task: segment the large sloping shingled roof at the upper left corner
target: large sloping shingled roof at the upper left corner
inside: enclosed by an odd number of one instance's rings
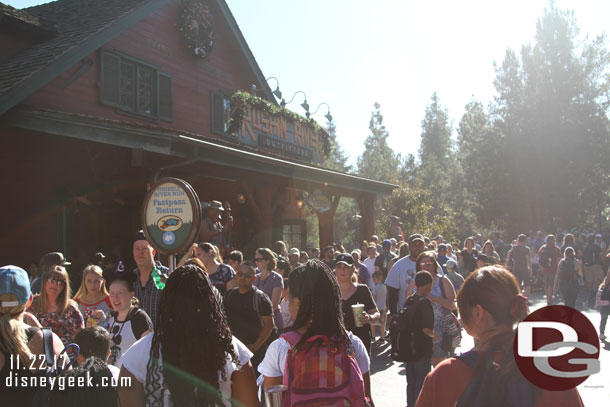
[[[16,10],[53,25],[57,35],[0,64],[0,115],[167,1],[58,0]]]

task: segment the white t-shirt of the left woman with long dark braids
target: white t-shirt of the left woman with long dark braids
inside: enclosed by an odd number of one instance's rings
[[[153,335],[146,335],[139,341],[133,344],[131,348],[123,354],[123,367],[129,370],[134,377],[146,386],[146,366],[148,365],[148,359],[150,359],[150,346],[152,344]],[[239,360],[239,366],[235,365],[231,360],[231,357],[227,355],[227,363],[225,365],[225,377],[226,380],[222,380],[221,373],[218,372],[218,387],[223,397],[224,405],[231,407],[231,375],[234,371],[239,370],[241,366],[244,366],[252,358],[252,352],[239,341],[236,337],[233,337],[233,348],[235,354]],[[159,356],[159,365],[161,365],[161,356]],[[163,376],[161,375],[161,381]],[[165,407],[171,407],[172,402],[170,399],[169,390],[165,387],[162,388],[163,394],[163,405]]]

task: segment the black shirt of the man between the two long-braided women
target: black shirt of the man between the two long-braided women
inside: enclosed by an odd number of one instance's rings
[[[233,335],[245,344],[256,342],[263,329],[261,317],[273,316],[271,300],[254,286],[245,294],[238,287],[230,289],[224,305]]]

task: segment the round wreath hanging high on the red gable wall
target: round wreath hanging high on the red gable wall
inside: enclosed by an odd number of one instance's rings
[[[184,45],[205,60],[214,47],[214,24],[207,0],[182,0],[179,18]]]

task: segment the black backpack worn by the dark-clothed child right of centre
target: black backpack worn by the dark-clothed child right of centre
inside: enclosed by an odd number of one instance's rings
[[[419,301],[420,297],[417,295],[407,298],[403,309],[392,318],[390,323],[392,360],[413,362],[421,357],[415,342],[415,316]]]

